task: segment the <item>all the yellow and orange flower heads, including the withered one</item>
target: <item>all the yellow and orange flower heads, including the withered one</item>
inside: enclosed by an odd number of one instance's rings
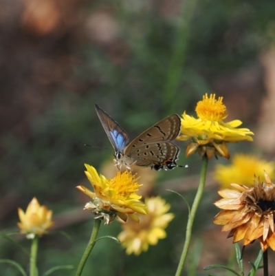
[[[223,98],[215,98],[214,94],[197,103],[197,118],[184,112],[181,118],[181,134],[177,140],[188,140],[186,156],[199,153],[208,159],[212,156],[230,158],[227,143],[243,140],[252,141],[252,131],[239,128],[240,120],[224,123],[228,116]],[[118,218],[123,231],[118,238],[126,253],[140,254],[148,249],[148,245],[157,244],[159,239],[166,237],[164,229],[168,226],[174,215],[168,213],[170,205],[160,198],[147,198],[141,201],[137,191],[142,186],[137,183],[137,176],[131,171],[118,171],[113,178],[99,175],[94,167],[85,164],[85,174],[91,182],[94,191],[84,186],[77,189],[91,198],[85,205],[91,210],[96,219],[111,224]],[[217,165],[214,178],[225,189],[219,191],[222,199],[215,205],[223,209],[214,217],[214,224],[223,225],[221,231],[230,231],[228,237],[233,242],[243,240],[244,245],[260,240],[261,248],[268,247],[275,250],[274,234],[274,200],[275,184],[270,180],[267,171],[273,178],[275,176],[274,162],[259,160],[254,156],[236,155],[231,166]],[[254,175],[264,178],[256,178]],[[252,180],[254,178],[254,184]],[[241,184],[229,184],[232,182]],[[131,220],[127,220],[128,217]],[[34,198],[24,213],[19,209],[19,227],[28,237],[43,235],[52,226],[52,211],[46,206],[40,206]]]

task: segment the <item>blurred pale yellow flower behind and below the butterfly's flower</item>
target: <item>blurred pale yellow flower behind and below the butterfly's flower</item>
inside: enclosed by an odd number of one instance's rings
[[[122,224],[124,231],[118,235],[127,254],[140,255],[142,251],[147,251],[149,245],[155,245],[159,239],[164,239],[166,237],[164,229],[174,218],[173,213],[167,213],[170,205],[159,196],[146,198],[145,203],[149,214],[139,215],[139,224],[130,221]]]

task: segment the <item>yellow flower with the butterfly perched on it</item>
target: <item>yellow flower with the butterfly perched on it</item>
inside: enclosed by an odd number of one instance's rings
[[[85,174],[94,187],[94,192],[84,186],[76,187],[93,200],[85,205],[85,210],[92,210],[96,218],[104,219],[105,224],[113,222],[117,215],[124,222],[128,216],[139,222],[136,213],[148,213],[145,204],[140,202],[142,197],[135,193],[142,185],[137,183],[137,178],[130,171],[119,171],[114,178],[107,179],[98,176],[96,169],[89,164],[85,167]]]

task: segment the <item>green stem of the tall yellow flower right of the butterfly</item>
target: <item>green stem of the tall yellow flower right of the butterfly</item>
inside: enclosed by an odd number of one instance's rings
[[[194,202],[192,204],[191,211],[188,216],[188,222],[186,226],[186,240],[184,243],[184,249],[181,253],[181,258],[179,259],[179,265],[177,266],[177,272],[175,276],[181,275],[181,270],[184,268],[184,262],[186,261],[186,256],[188,253],[188,248],[191,241],[191,235],[192,235],[192,225],[195,220],[195,215],[199,206],[199,202],[201,201],[201,196],[204,191],[204,187],[206,184],[206,171],[208,166],[208,158],[207,156],[203,156],[202,158],[202,165],[201,165],[201,177],[199,179],[199,188],[197,189],[197,194],[195,196]]]

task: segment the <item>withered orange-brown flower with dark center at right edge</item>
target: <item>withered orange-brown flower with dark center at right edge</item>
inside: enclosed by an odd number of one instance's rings
[[[274,215],[275,184],[264,173],[265,182],[254,179],[250,188],[231,184],[236,190],[219,191],[222,199],[214,204],[223,209],[214,217],[214,224],[223,225],[221,231],[230,231],[233,242],[243,240],[246,246],[259,239],[261,248],[275,250]]]

